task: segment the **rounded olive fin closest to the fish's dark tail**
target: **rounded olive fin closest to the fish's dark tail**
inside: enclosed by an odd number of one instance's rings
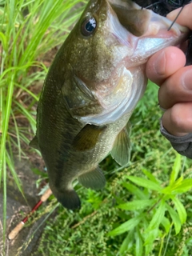
[[[101,190],[106,185],[106,178],[102,174],[102,170],[97,167],[94,170],[90,170],[86,174],[82,174],[78,177],[78,182],[90,188],[92,190]]]

